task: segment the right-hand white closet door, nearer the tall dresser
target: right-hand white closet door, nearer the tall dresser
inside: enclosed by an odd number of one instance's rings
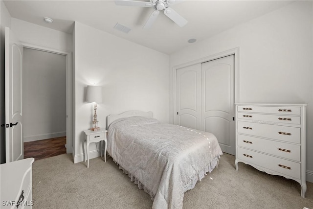
[[[202,63],[202,130],[213,133],[223,152],[235,155],[234,55]]]

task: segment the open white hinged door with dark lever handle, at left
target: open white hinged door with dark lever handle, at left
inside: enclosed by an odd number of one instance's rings
[[[23,50],[10,28],[5,27],[5,155],[6,163],[24,157],[22,135]]]

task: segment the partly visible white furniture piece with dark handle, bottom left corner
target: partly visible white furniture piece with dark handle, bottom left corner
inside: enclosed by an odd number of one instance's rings
[[[32,163],[34,158],[26,158],[0,165],[1,209],[31,209]]]

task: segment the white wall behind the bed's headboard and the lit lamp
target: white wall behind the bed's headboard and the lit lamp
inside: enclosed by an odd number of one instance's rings
[[[85,102],[87,85],[103,87],[97,109],[100,127],[106,127],[106,116],[128,110],[153,111],[168,122],[168,55],[78,22],[74,37],[75,163],[83,161],[83,130],[90,128],[93,116],[93,104]]]

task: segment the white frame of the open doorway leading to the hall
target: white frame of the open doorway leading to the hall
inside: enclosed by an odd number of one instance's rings
[[[55,54],[61,54],[66,56],[66,75],[67,75],[67,154],[72,153],[72,52],[45,47],[45,46],[39,46],[29,43],[22,42],[22,46],[24,48],[30,48],[45,52],[51,52]]]

